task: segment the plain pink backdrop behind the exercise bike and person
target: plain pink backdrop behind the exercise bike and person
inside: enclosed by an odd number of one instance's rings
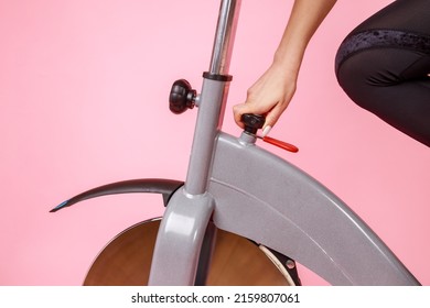
[[[230,107],[269,65],[292,1],[245,0]],[[311,42],[297,96],[271,135],[278,151],[346,201],[430,285],[429,148],[343,94],[333,58],[343,37],[388,0],[340,1]],[[79,285],[125,228],[162,213],[159,196],[64,199],[103,184],[184,179],[196,111],[168,109],[173,80],[201,88],[218,1],[0,2],[0,285]],[[307,271],[305,284],[324,284]]]

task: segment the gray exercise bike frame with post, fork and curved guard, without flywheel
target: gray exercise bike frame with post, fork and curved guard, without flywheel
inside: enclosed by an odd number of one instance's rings
[[[322,184],[256,145],[256,135],[236,138],[222,131],[240,2],[221,1],[209,69],[195,98],[198,114],[186,180],[106,185],[53,211],[101,195],[162,194],[166,210],[149,285],[195,285],[197,270],[208,267],[216,229],[289,255],[332,285],[419,285],[377,234]],[[208,228],[212,222],[216,228]]]

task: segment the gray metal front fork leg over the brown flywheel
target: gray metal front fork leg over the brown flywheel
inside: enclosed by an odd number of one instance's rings
[[[150,286],[194,285],[213,208],[208,195],[190,197],[183,189],[173,195],[158,232]]]

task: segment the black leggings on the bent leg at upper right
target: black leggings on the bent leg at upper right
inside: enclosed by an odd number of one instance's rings
[[[397,0],[364,21],[335,69],[353,101],[430,146],[430,0]]]

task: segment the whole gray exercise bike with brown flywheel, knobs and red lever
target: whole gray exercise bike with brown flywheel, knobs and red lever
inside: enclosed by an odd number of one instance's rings
[[[247,284],[251,278],[244,273],[256,270],[252,284],[300,285],[298,262],[332,285],[420,285],[338,197],[257,145],[264,117],[245,114],[245,131],[239,136],[222,131],[240,2],[221,1],[211,64],[203,73],[201,91],[185,79],[176,80],[171,89],[172,112],[198,109],[185,180],[114,183],[79,194],[52,210],[112,194],[163,196],[163,217],[116,237],[96,258],[84,284]],[[264,141],[298,151],[284,142]],[[225,270],[226,263],[241,264],[240,274],[235,266]],[[272,274],[269,267],[275,268]],[[235,278],[239,276],[245,282]],[[264,276],[271,278],[265,280]]]

